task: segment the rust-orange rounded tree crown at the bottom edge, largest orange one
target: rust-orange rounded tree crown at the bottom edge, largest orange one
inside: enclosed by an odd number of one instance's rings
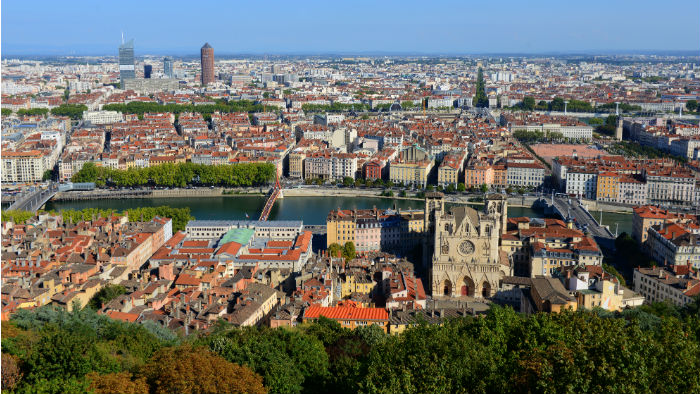
[[[156,394],[266,394],[262,377],[206,348],[189,345],[158,351],[142,369]]]

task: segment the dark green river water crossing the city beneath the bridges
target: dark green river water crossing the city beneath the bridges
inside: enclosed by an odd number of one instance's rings
[[[225,196],[225,197],[179,197],[179,198],[130,198],[115,200],[84,200],[84,201],[49,201],[47,210],[100,208],[122,211],[138,207],[155,207],[169,205],[173,208],[189,207],[192,216],[197,219],[244,220],[258,219],[265,205],[263,196]],[[285,197],[277,200],[270,220],[303,220],[305,224],[326,224],[328,212],[333,209],[367,209],[376,206],[380,209],[396,206],[400,209],[423,209],[423,201],[387,199],[379,197]],[[449,207],[449,204],[448,204]],[[483,205],[474,205],[481,209]],[[544,213],[532,208],[508,207],[509,217],[543,217]],[[596,220],[599,213],[594,212]],[[615,223],[619,232],[632,231],[632,215],[603,212],[603,224],[609,225],[613,234]]]

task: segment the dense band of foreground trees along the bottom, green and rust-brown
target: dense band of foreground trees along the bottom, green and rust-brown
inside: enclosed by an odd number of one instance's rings
[[[91,308],[21,310],[2,323],[10,393],[691,393],[698,302],[418,322],[398,335],[320,318],[295,328],[175,335]]]

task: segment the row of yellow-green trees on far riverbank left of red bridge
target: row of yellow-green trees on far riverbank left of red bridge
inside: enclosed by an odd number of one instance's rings
[[[276,168],[272,163],[240,163],[205,165],[195,163],[165,163],[151,167],[131,167],[119,170],[98,167],[85,163],[73,175],[73,182],[94,182],[98,187],[166,186],[187,185],[260,186],[275,179]]]

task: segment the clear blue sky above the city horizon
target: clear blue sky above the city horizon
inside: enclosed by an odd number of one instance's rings
[[[2,54],[697,50],[698,0],[5,0]]]

